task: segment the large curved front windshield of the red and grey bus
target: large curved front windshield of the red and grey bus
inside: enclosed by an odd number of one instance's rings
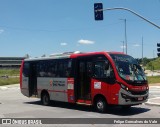
[[[133,57],[124,54],[110,54],[110,56],[122,79],[136,83],[146,81],[143,69]]]

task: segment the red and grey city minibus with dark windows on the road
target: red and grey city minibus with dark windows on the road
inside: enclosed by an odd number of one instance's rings
[[[121,52],[62,53],[25,59],[20,90],[27,97],[91,105],[130,108],[147,101],[148,82],[136,59]]]

